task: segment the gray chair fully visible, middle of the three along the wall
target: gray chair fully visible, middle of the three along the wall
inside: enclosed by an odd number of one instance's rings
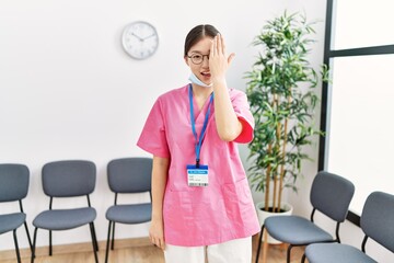
[[[42,181],[44,193],[49,196],[49,209],[39,213],[33,220],[34,238],[32,263],[35,258],[37,230],[49,231],[49,255],[53,254],[53,231],[74,229],[84,225],[90,226],[95,262],[99,250],[94,219],[96,210],[91,206],[90,194],[93,193],[96,182],[96,167],[86,160],[63,160],[48,162],[43,167]],[[53,208],[55,198],[86,196],[88,204],[76,208]]]

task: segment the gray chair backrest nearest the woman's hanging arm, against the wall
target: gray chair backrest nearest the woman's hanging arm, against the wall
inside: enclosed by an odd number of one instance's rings
[[[107,165],[108,185],[115,193],[150,192],[151,173],[152,158],[115,159]]]

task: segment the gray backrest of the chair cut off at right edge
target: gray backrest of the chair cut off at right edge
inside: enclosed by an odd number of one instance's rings
[[[368,237],[394,252],[394,195],[371,193],[363,206],[360,226]]]

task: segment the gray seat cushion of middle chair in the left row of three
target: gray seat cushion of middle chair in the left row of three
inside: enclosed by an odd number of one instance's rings
[[[39,213],[33,225],[47,230],[68,230],[93,222],[95,218],[96,210],[93,207],[53,209]]]

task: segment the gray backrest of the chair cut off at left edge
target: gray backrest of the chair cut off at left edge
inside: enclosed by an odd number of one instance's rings
[[[24,164],[0,164],[0,202],[20,201],[28,192],[30,171]]]

